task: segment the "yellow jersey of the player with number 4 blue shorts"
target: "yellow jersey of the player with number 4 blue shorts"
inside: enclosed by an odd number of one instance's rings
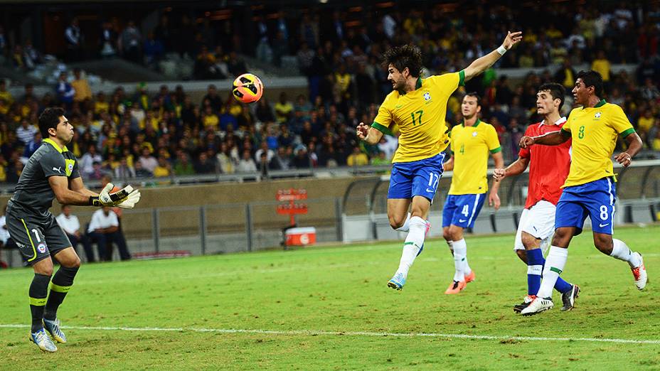
[[[495,127],[477,119],[472,127],[464,124],[453,127],[450,138],[454,151],[454,176],[449,194],[485,193],[488,190],[488,156],[502,150]]]

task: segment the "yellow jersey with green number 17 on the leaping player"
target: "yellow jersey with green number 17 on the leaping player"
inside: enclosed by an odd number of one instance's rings
[[[447,100],[464,80],[464,71],[420,77],[412,92],[394,90],[385,97],[371,127],[384,134],[400,132],[392,163],[424,160],[447,148]]]

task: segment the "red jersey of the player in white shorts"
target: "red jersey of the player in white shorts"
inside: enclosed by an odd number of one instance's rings
[[[525,131],[526,136],[539,136],[552,131],[559,131],[566,118],[562,117],[553,125],[537,122]],[[518,156],[529,158],[529,188],[525,208],[531,208],[538,201],[546,200],[557,205],[568,171],[570,170],[570,139],[558,146],[534,144],[521,149]]]

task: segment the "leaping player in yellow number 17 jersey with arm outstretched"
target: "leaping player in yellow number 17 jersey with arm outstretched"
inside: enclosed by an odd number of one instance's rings
[[[449,96],[459,85],[493,65],[521,39],[521,32],[509,32],[499,48],[474,60],[464,70],[425,79],[420,77],[422,54],[413,45],[392,48],[383,55],[393,91],[380,105],[371,127],[361,122],[357,135],[369,144],[376,144],[383,133],[400,132],[399,147],[392,160],[388,218],[391,227],[408,232],[408,236],[399,268],[388,281],[389,287],[403,288],[430,227],[426,219],[442,176],[445,158],[442,151],[449,142],[445,125]],[[408,213],[411,205],[412,212]]]

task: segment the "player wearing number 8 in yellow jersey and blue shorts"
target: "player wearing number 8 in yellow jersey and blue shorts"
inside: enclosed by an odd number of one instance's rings
[[[646,286],[646,269],[639,252],[632,252],[621,240],[612,238],[614,232],[614,201],[616,185],[612,152],[617,136],[626,139],[628,149],[615,159],[629,166],[632,157],[642,149],[642,139],[617,104],[602,97],[602,77],[595,71],[580,71],[573,88],[575,102],[582,106],[573,109],[560,131],[541,136],[523,136],[521,148],[534,144],[556,146],[568,139],[573,141],[572,161],[563,193],[555,211],[555,235],[545,259],[541,289],[527,308],[521,311],[531,316],[553,308],[552,290],[568,258],[568,244],[582,232],[587,216],[591,218],[594,244],[603,254],[628,262],[637,289]]]

